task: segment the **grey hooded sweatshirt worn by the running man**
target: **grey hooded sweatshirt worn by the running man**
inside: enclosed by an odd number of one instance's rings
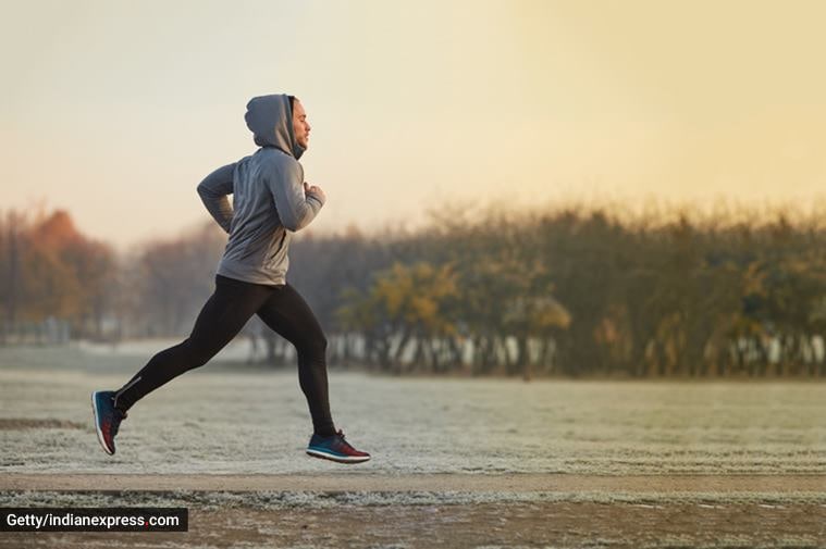
[[[304,192],[304,148],[295,140],[289,97],[250,99],[247,127],[260,147],[219,167],[198,185],[204,205],[230,234],[218,274],[255,284],[286,284],[292,233],[306,227],[324,201]],[[233,195],[233,204],[226,199]]]

